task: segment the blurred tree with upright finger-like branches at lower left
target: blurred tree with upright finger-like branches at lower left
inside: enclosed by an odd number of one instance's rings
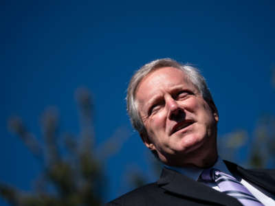
[[[76,100],[80,113],[78,137],[68,133],[59,135],[58,113],[54,108],[45,111],[41,118],[44,144],[39,144],[19,117],[10,119],[10,130],[22,139],[25,146],[43,164],[43,173],[36,181],[34,192],[26,193],[0,183],[0,195],[10,205],[102,205],[105,189],[102,174],[104,160],[98,158],[94,146],[94,106],[85,89],[78,89]],[[113,139],[110,140],[113,142]],[[60,141],[61,145],[58,144]],[[118,146],[118,139],[115,142]],[[112,148],[107,141],[101,146],[100,151],[106,151],[102,156],[110,155],[116,146],[113,144]]]

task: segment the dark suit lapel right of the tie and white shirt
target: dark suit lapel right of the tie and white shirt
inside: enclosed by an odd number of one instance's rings
[[[250,183],[258,185],[267,192],[275,194],[275,179],[267,172],[264,172],[264,170],[245,170],[244,168],[241,168],[239,165],[231,163],[230,161],[224,162],[230,172],[237,172],[241,178],[249,181]]]

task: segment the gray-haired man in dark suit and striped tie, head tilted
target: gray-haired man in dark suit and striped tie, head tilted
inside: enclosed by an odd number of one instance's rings
[[[150,62],[131,79],[126,100],[133,127],[165,166],[156,183],[107,205],[275,205],[274,171],[219,158],[219,113],[197,69]]]

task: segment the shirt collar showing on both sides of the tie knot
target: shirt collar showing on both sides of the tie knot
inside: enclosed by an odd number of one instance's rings
[[[195,168],[195,167],[177,168],[177,167],[171,167],[168,165],[164,165],[164,166],[170,170],[174,170],[176,172],[184,174],[188,178],[193,179],[195,181],[197,181],[199,179],[199,176],[201,175],[201,172],[203,171],[203,168]],[[214,165],[211,168],[215,168],[225,174],[230,174],[232,176],[232,174],[228,171],[228,168],[226,167],[225,163],[223,162],[223,160],[220,157],[218,157],[216,163],[214,163]]]

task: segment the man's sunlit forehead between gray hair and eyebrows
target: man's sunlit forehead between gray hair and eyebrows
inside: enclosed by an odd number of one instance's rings
[[[195,89],[194,85],[188,80],[184,71],[175,67],[162,67],[145,76],[135,92],[137,102],[146,101],[153,95],[162,93],[162,91],[169,91],[176,87],[188,87],[188,89]]]

